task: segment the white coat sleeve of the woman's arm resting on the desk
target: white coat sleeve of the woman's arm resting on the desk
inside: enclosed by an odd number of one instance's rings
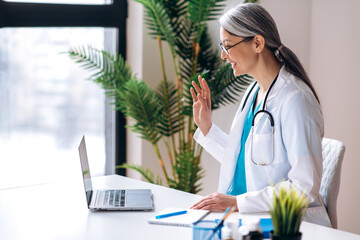
[[[259,191],[236,197],[239,212],[264,212],[271,206],[274,188],[296,186],[309,204],[319,195],[322,176],[323,118],[319,104],[308,92],[300,91],[284,101],[281,112],[282,141],[291,165],[288,179]]]

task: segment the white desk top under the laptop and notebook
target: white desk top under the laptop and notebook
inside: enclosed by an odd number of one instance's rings
[[[94,188],[150,188],[155,211],[90,212],[81,179],[77,180],[0,191],[0,239],[192,239],[191,228],[150,225],[147,219],[165,207],[189,207],[201,196],[112,175],[94,178]],[[301,231],[303,240],[360,239],[306,222]]]

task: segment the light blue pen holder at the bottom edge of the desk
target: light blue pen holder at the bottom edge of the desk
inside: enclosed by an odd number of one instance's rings
[[[193,240],[220,240],[221,228],[214,233],[216,227],[215,221],[199,221],[192,225],[193,228]]]

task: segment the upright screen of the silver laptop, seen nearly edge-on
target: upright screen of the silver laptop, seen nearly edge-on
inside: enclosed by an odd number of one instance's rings
[[[91,194],[92,194],[92,184],[91,184],[89,162],[88,162],[87,153],[86,153],[85,136],[83,136],[81,139],[81,142],[79,145],[79,154],[80,154],[82,175],[83,175],[83,179],[84,179],[86,199],[87,199],[88,206],[89,206],[90,201],[91,201]]]

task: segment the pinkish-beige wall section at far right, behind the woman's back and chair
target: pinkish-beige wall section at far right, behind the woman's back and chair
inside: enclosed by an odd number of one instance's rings
[[[339,228],[360,234],[360,1],[312,3],[309,75],[320,95],[325,136],[345,143]]]

